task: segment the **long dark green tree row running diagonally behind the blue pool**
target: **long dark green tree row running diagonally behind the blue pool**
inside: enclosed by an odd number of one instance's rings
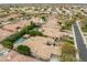
[[[35,28],[39,28],[39,26],[35,25],[35,24],[26,25],[21,31],[18,31],[17,33],[14,33],[14,34],[10,35],[9,37],[7,37],[6,40],[3,40],[1,43],[2,43],[3,46],[9,47],[9,48],[12,48],[11,46],[13,45],[13,43],[18,39],[22,37],[24,34],[30,34],[32,36],[43,35],[37,30],[34,30]]]

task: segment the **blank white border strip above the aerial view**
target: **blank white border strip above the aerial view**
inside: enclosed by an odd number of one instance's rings
[[[0,3],[87,3],[87,0],[0,0]]]

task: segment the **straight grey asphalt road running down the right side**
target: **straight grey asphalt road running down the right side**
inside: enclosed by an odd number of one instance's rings
[[[75,32],[79,58],[83,62],[87,62],[87,48],[86,45],[84,44],[84,40],[81,37],[77,23],[74,24],[74,32]]]

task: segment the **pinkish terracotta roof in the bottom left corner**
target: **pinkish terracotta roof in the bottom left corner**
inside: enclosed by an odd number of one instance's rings
[[[21,55],[18,52],[10,52],[8,55],[0,58],[0,62],[35,62],[35,58],[31,56]]]

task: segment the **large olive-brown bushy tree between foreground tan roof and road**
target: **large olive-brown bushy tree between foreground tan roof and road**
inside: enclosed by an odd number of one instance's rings
[[[63,62],[76,61],[76,50],[72,44],[65,43],[62,45],[62,56]]]

